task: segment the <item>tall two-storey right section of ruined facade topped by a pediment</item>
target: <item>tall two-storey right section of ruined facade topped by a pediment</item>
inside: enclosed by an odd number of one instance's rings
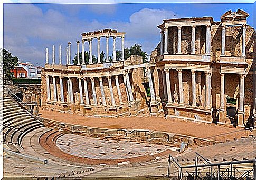
[[[167,117],[242,127],[251,119],[255,32],[246,24],[248,16],[238,9],[220,22],[179,18],[158,26],[154,79]]]

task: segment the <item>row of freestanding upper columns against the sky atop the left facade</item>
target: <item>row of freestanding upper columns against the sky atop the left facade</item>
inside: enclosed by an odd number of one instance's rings
[[[116,38],[117,36],[113,36],[113,61],[117,61],[116,59]],[[125,60],[125,46],[124,46],[124,39],[125,37],[121,37],[121,61]],[[98,62],[100,62],[100,37],[98,39]],[[92,62],[92,39],[82,39],[82,65],[86,65],[86,59],[84,55],[84,42],[89,42],[89,64],[93,64]],[[79,50],[79,43],[80,41],[77,41],[77,59],[80,59],[80,50]],[[45,49],[45,59],[46,64],[49,64],[49,51],[48,48]],[[68,42],[68,47],[66,48],[66,60],[67,65],[71,65],[71,42]],[[109,36],[106,37],[106,62],[109,63]],[[55,45],[52,46],[52,64],[55,64]],[[62,65],[62,58],[61,58],[61,44],[59,45],[59,64]],[[77,65],[81,65],[80,61],[78,61]]]

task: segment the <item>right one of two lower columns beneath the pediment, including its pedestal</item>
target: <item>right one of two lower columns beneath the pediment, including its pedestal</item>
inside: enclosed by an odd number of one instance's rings
[[[244,120],[244,74],[240,74],[239,85],[239,108],[238,108],[238,126],[243,127]]]

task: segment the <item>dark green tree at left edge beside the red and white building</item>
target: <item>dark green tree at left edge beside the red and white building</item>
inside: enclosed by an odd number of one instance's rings
[[[18,65],[17,56],[12,56],[8,50],[4,49],[4,78],[11,80],[13,78],[13,70]]]

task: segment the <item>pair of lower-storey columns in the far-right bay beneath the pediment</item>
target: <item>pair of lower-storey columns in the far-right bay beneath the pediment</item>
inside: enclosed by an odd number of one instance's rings
[[[221,87],[220,87],[220,111],[225,109],[225,74],[221,73]],[[240,74],[239,83],[239,106],[238,112],[244,112],[244,74]]]

